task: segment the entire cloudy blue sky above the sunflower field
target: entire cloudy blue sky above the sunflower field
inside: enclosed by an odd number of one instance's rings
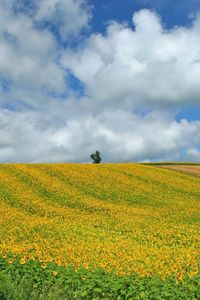
[[[1,0],[0,162],[200,161],[200,0]]]

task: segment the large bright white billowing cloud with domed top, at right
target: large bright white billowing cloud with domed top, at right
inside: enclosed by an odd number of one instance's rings
[[[76,53],[63,54],[90,99],[115,107],[200,103],[200,17],[191,28],[168,31],[154,12],[141,10],[133,24],[112,23],[105,36],[93,34]]]

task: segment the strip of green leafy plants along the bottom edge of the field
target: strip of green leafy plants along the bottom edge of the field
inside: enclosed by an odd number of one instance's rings
[[[45,269],[38,261],[7,265],[0,260],[0,300],[59,299],[200,299],[198,278],[117,276],[102,269],[94,271],[57,267]]]

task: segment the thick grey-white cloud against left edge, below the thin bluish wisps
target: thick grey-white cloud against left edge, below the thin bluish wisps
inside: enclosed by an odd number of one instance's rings
[[[65,72],[57,64],[58,54],[48,30],[35,29],[28,16],[0,5],[0,75],[11,83],[11,97],[17,90],[65,91]]]

